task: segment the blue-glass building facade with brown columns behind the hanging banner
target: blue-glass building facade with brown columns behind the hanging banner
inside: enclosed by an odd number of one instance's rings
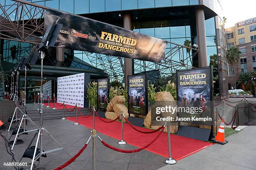
[[[13,1],[0,0],[5,9]],[[37,5],[63,10],[105,23],[117,25],[139,33],[143,33],[166,41],[189,46],[198,45],[199,53],[189,62],[194,67],[209,66],[211,60],[217,58],[218,67],[214,68],[215,94],[227,96],[228,65],[225,59],[225,30],[223,28],[221,0],[30,0]],[[13,16],[11,16],[13,17]],[[1,41],[3,59],[10,59],[10,47],[17,42]],[[28,48],[30,44],[17,44],[20,48]],[[169,45],[166,52],[175,48]],[[192,51],[183,51],[184,55],[191,55]],[[177,54],[175,54],[177,55]],[[169,65],[148,61],[132,60],[106,56],[86,51],[73,51],[67,49],[53,50],[51,58],[55,63],[66,59],[89,63],[95,68],[105,71],[110,81],[125,82],[130,74],[146,72],[157,74],[152,80],[173,76],[175,69]],[[173,60],[180,62],[179,56]],[[61,65],[60,65],[61,66]],[[181,67],[182,69],[182,67]]]

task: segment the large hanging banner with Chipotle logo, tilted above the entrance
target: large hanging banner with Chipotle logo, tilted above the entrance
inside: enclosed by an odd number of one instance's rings
[[[46,12],[44,30],[56,20],[62,28],[55,47],[161,62],[167,45],[159,38],[53,9]]]

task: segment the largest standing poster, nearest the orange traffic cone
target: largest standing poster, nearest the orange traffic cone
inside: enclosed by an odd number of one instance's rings
[[[179,112],[179,117],[211,117],[212,121],[193,123],[214,125],[211,67],[176,71],[176,79],[178,105],[189,110]]]

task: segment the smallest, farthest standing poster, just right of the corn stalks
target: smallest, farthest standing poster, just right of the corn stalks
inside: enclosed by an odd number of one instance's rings
[[[108,106],[108,90],[109,81],[108,79],[98,79],[97,83],[97,108],[107,109]]]

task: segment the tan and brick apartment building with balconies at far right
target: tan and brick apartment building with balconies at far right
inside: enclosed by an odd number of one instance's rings
[[[241,52],[235,71],[231,71],[229,66],[228,83],[232,87],[234,86],[234,74],[238,80],[240,73],[256,71],[256,17],[243,20],[233,27],[227,28],[226,36],[227,47],[238,47]]]

